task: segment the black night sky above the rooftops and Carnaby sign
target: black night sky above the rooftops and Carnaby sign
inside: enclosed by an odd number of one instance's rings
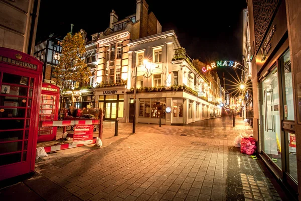
[[[242,11],[247,8],[245,0],[146,2],[148,10],[161,23],[162,32],[174,30],[181,46],[192,59],[199,58],[208,64],[217,60],[241,63]],[[136,1],[82,1],[79,4],[70,0],[43,0],[37,42],[51,33],[66,35],[71,23],[74,24],[73,32],[84,29],[88,36],[102,32],[109,26],[112,9],[121,20],[135,13]],[[226,79],[233,80],[228,73],[234,73],[230,67],[218,69],[220,76],[222,72],[225,72]],[[232,83],[227,81],[226,89],[231,87],[228,84]]]

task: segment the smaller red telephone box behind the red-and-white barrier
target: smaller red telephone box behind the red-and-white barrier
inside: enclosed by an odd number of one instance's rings
[[[59,113],[60,88],[54,84],[42,83],[39,121],[57,121]],[[56,140],[57,127],[39,127],[38,142]]]

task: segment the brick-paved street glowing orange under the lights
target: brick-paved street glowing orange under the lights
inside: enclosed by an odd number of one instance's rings
[[[235,127],[231,118],[136,124],[135,134],[119,123],[118,136],[114,127],[104,122],[100,148],[49,154],[35,176],[1,189],[0,200],[287,200],[259,159],[233,147],[237,135],[252,133],[239,119]]]

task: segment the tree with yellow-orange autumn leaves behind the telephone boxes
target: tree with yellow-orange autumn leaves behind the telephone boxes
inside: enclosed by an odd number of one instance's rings
[[[86,83],[91,72],[85,63],[83,54],[86,51],[84,40],[80,32],[68,33],[62,41],[62,53],[59,65],[54,70],[56,85],[60,90],[60,110],[63,107],[63,95],[73,87],[74,83]]]

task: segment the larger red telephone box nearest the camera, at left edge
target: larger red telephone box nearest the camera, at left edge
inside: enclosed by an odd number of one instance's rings
[[[42,65],[0,47],[0,180],[35,169]]]

